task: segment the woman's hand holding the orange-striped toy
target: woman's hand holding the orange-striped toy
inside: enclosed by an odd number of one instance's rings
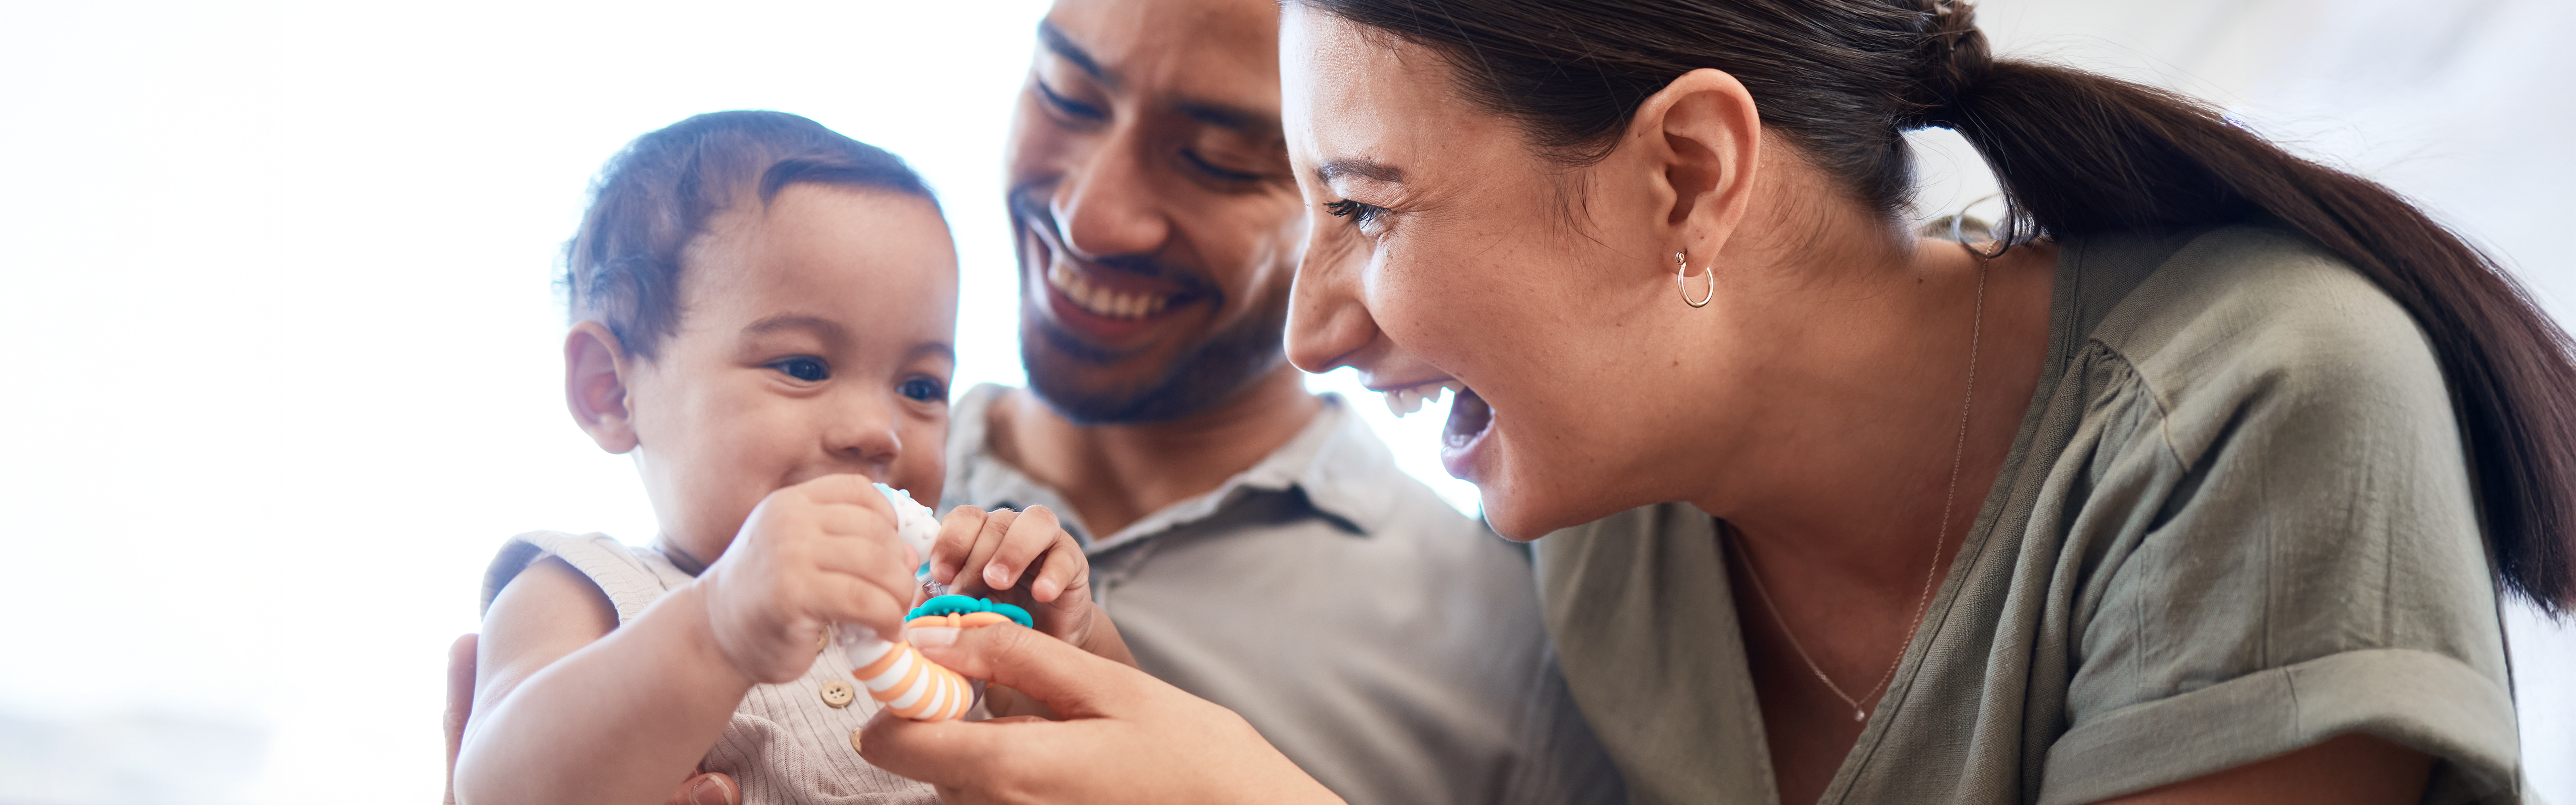
[[[1018,624],[909,630],[958,673],[1064,720],[914,722],[878,712],[860,756],[945,802],[1342,802],[1244,717]]]

